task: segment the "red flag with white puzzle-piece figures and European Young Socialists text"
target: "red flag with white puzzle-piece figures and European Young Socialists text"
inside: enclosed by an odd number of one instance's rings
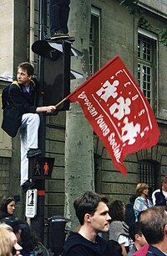
[[[123,163],[127,154],[157,144],[160,133],[154,112],[119,56],[68,98],[80,103],[85,117],[121,173],[127,173]]]

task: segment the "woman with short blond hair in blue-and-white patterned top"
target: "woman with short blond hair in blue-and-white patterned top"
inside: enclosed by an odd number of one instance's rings
[[[152,201],[150,201],[147,196],[149,193],[149,185],[146,183],[139,183],[136,186],[136,196],[134,201],[134,215],[135,221],[138,221],[139,213],[153,206]]]

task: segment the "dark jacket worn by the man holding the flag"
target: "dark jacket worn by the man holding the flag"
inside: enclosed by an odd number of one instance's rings
[[[35,113],[35,97],[37,86],[34,81],[30,83],[30,93],[22,85],[17,86],[14,81],[8,91],[8,106],[3,110],[3,130],[9,136],[15,137],[24,113]]]

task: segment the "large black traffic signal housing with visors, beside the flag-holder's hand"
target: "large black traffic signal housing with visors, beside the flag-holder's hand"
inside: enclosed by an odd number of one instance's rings
[[[70,79],[82,77],[78,72],[70,71],[70,56],[82,53],[65,39],[38,40],[32,45],[32,50],[44,58],[43,104],[57,105],[70,93]],[[68,109],[69,100],[57,107],[57,111]]]

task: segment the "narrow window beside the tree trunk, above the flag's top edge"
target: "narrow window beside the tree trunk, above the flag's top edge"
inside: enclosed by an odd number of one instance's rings
[[[100,10],[91,8],[91,24],[89,34],[90,73],[93,75],[100,67]]]

